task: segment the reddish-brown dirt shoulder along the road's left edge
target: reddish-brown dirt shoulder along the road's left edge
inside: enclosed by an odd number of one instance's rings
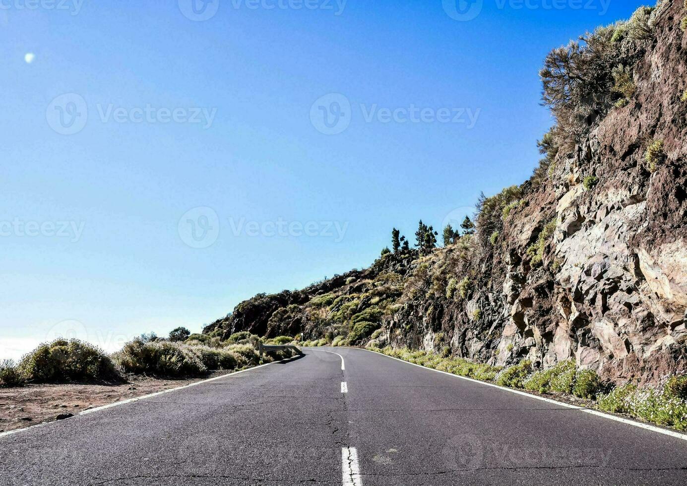
[[[229,373],[216,371],[191,380],[159,380],[145,376],[127,377],[124,384],[29,384],[0,388],[0,432],[30,427],[78,415],[83,410],[157,393]],[[65,417],[66,418],[66,417]]]

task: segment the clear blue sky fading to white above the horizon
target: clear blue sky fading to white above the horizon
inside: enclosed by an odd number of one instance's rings
[[[641,4],[192,1],[0,1],[0,358],[196,332],[460,219],[537,164],[545,54]]]

